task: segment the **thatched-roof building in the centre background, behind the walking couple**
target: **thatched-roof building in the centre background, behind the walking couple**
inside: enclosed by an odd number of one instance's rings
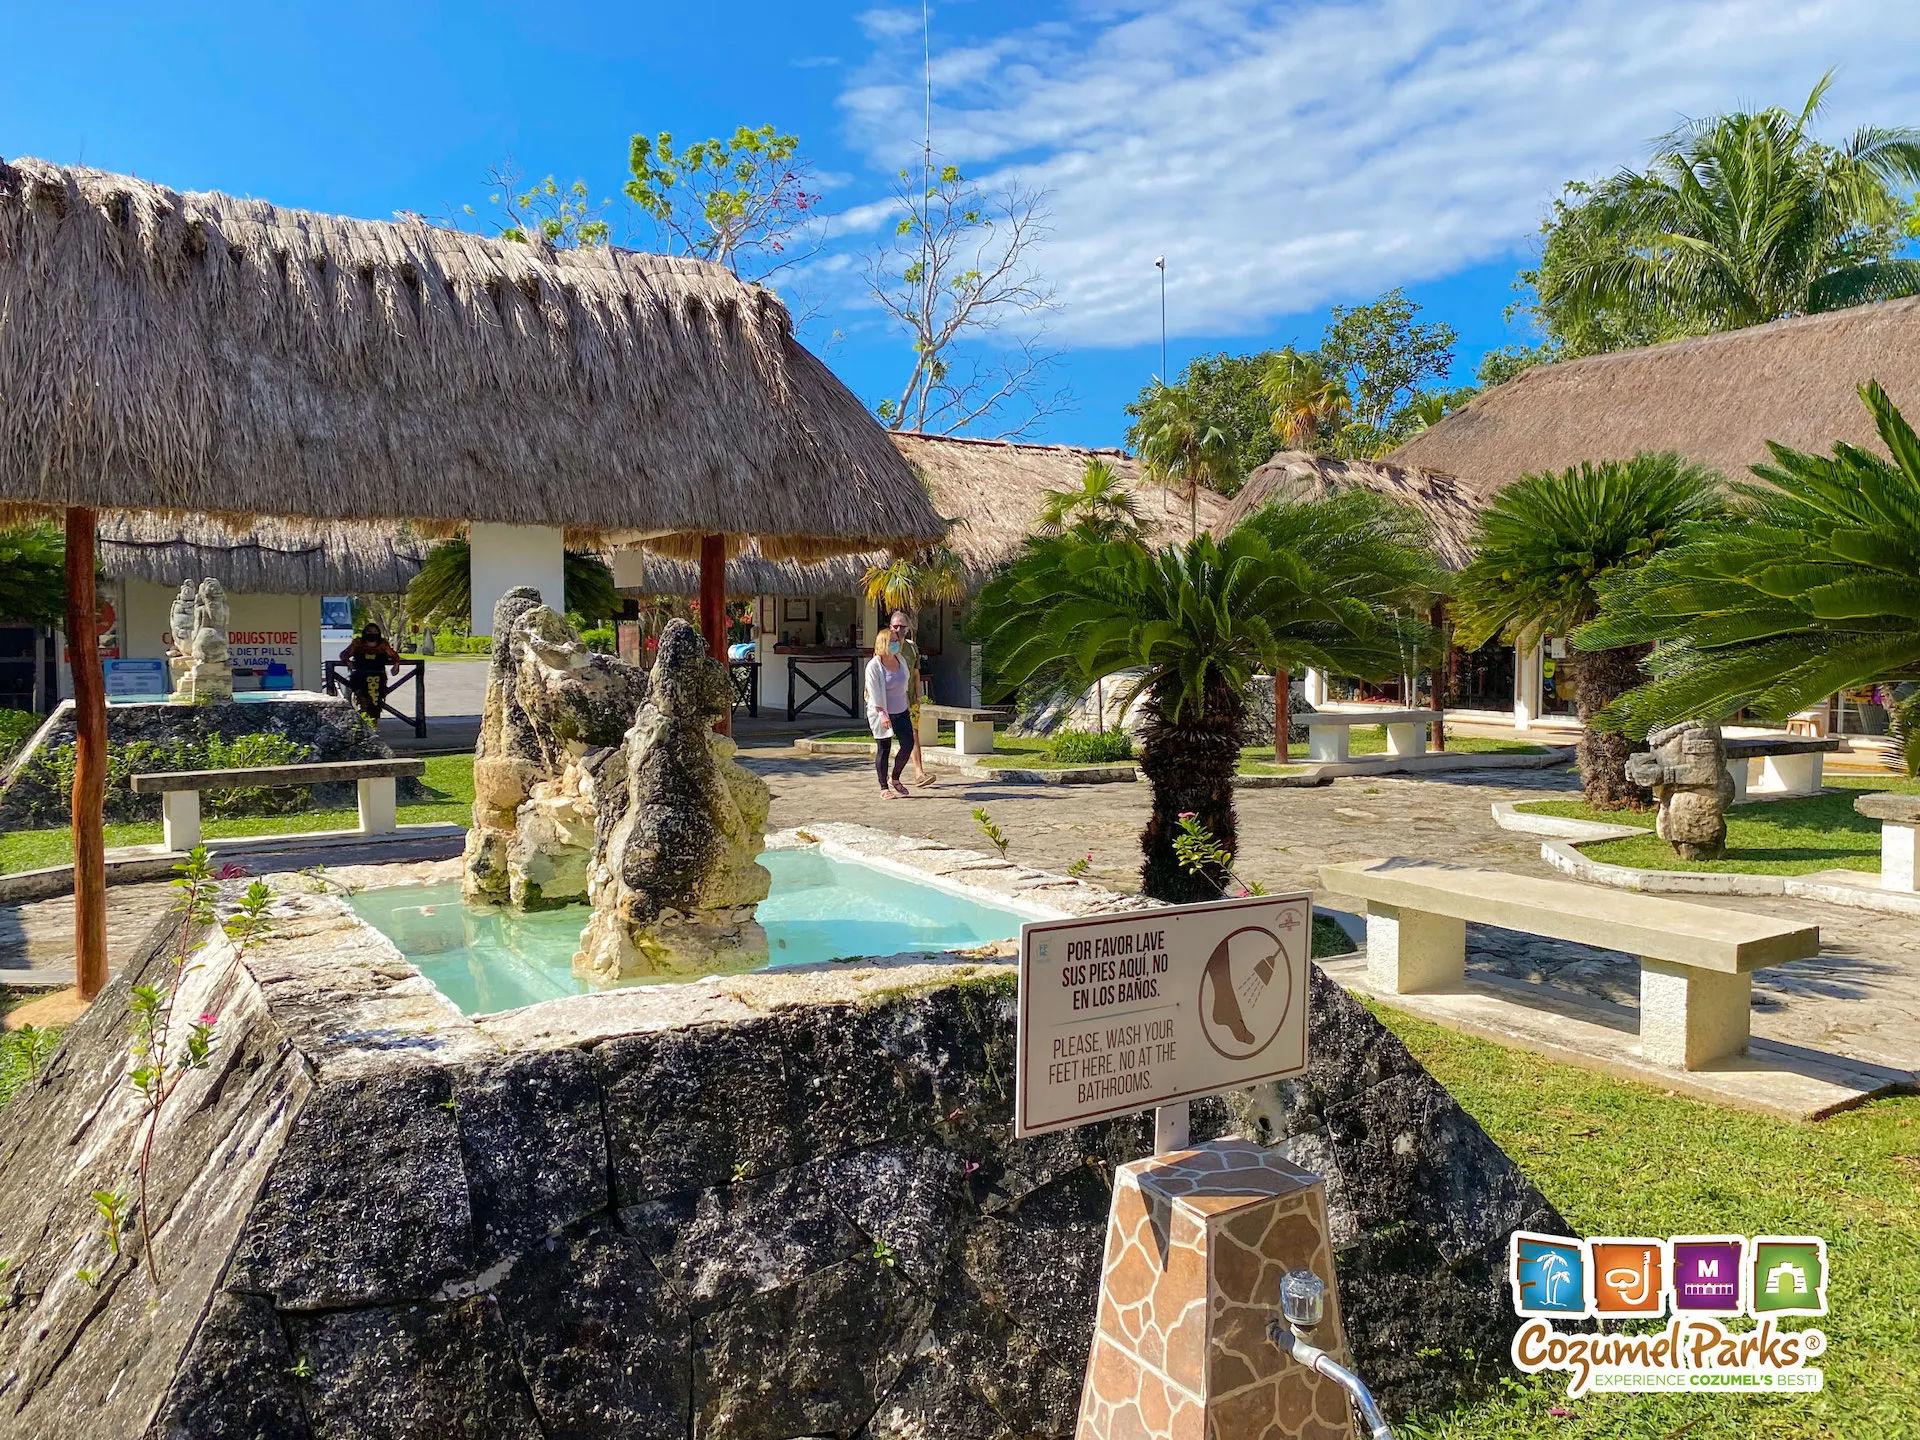
[[[1119,449],[1037,445],[964,436],[891,436],[899,453],[925,484],[935,509],[952,522],[947,543],[960,559],[966,591],[977,591],[1010,561],[1041,524],[1048,490],[1073,490],[1089,461],[1104,461],[1133,492],[1150,538],[1185,540],[1188,501],[1146,478]],[[1196,499],[1200,528],[1212,528],[1227,501],[1212,492]],[[877,607],[864,599],[862,580],[887,555],[845,555],[816,564],[772,559],[764,549],[728,563],[728,593],[753,597],[755,651],[760,659],[762,703],[785,707],[789,672],[812,680],[833,676],[831,693],[845,695],[845,659],[872,643]],[[612,557],[614,580],[628,595],[689,595],[693,566],[639,551]],[[920,643],[931,668],[935,699],[964,705],[975,699],[979,674],[964,639],[966,599],[927,607],[920,614]],[[801,697],[822,708],[828,701],[799,680]],[[831,712],[831,710],[828,710]]]

